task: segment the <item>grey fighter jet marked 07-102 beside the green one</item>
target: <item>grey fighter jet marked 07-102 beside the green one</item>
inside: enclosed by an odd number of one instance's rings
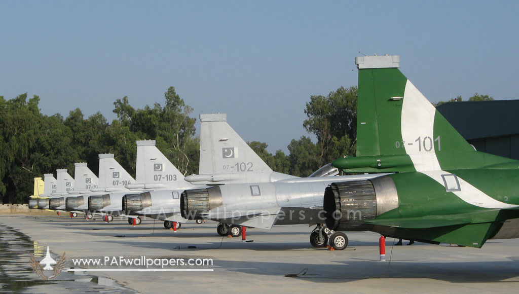
[[[329,232],[322,210],[326,186],[380,176],[297,178],[274,172],[227,124],[225,114],[202,114],[200,120],[200,175],[186,180],[226,184],[185,190],[181,213],[186,219],[220,222],[216,229],[220,235],[239,236],[242,226],[269,230],[274,224],[316,224],[310,243],[324,247]]]

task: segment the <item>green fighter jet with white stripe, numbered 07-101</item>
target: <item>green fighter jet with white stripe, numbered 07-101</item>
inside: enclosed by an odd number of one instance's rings
[[[332,183],[324,194],[328,228],[477,248],[519,237],[519,162],[476,151],[400,72],[398,56],[355,63],[357,156],[333,165],[397,173]]]

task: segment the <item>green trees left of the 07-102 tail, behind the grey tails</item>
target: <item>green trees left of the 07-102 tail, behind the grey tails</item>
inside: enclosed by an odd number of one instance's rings
[[[157,148],[185,174],[198,170],[200,140],[194,138],[193,111],[170,87],[165,106],[134,109],[128,97],[114,102],[117,119],[108,124],[101,113],[88,118],[75,109],[65,119],[42,115],[39,98],[27,94],[5,100],[0,96],[0,201],[26,203],[33,178],[87,162],[97,172],[98,154],[114,153],[115,159],[135,172],[136,140],[156,140]],[[9,199],[7,196],[9,195]]]

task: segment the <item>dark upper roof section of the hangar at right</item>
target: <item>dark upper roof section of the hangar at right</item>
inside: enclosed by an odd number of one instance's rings
[[[519,133],[519,100],[447,102],[436,109],[465,140]]]

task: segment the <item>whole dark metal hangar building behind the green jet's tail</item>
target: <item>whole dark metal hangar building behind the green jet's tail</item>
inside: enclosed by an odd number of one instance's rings
[[[436,109],[477,151],[519,160],[519,100],[448,102]]]

